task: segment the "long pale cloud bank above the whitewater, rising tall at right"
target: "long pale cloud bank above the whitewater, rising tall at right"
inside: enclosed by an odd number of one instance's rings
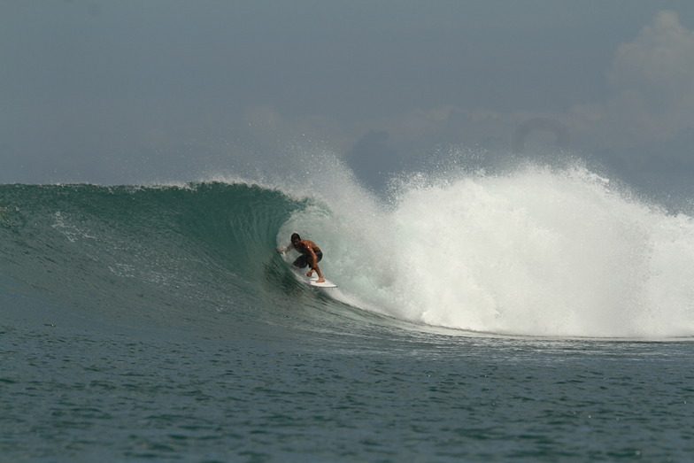
[[[652,173],[648,166],[656,157],[694,166],[686,143],[694,131],[694,32],[680,24],[677,14],[657,13],[633,40],[614,50],[604,75],[611,89],[605,99],[577,102],[565,111],[440,104],[335,120],[315,114],[285,117],[272,106],[258,106],[245,113],[243,125],[254,139],[324,141],[362,171],[382,174],[397,166],[416,168],[433,156],[433,147],[466,146],[503,155],[513,147],[521,150],[526,139],[528,156],[559,145],[593,157],[604,154],[606,164],[621,166],[631,176],[639,170],[644,176]]]

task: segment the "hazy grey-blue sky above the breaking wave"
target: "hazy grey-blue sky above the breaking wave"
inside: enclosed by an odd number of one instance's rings
[[[686,189],[693,31],[690,0],[3,0],[0,182],[197,180],[296,143],[387,171],[560,127]]]

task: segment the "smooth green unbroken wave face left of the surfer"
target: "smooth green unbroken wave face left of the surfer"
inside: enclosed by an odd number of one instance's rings
[[[4,185],[0,202],[6,294],[131,326],[204,326],[219,313],[244,320],[249,307],[268,305],[258,301],[282,283],[268,256],[302,204],[222,183]]]

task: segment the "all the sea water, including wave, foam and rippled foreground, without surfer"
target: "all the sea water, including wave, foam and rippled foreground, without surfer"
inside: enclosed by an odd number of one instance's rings
[[[0,460],[694,455],[690,215],[580,167],[319,177],[0,185]]]

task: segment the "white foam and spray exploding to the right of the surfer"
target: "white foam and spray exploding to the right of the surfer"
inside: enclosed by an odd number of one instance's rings
[[[280,235],[319,243],[351,305],[500,334],[694,335],[694,220],[584,166],[414,175],[389,204],[335,176]]]

